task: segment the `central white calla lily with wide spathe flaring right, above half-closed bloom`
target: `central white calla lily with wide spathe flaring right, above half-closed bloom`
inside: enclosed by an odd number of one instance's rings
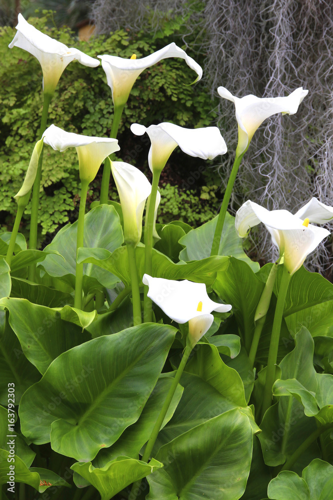
[[[148,163],[151,171],[161,171],[177,145],[190,156],[202,159],[213,159],[218,154],[227,152],[227,145],[216,126],[184,128],[164,122],[145,127],[132,123],[131,130],[135,135],[143,135],[145,132],[149,135],[151,146]]]

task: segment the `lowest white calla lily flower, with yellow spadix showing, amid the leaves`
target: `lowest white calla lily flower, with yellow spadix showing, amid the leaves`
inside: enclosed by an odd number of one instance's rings
[[[189,321],[189,337],[193,345],[210,328],[214,319],[212,310],[228,312],[232,307],[211,300],[204,283],[155,278],[149,274],[143,275],[142,282],[149,286],[148,297],[171,319],[178,323]]]

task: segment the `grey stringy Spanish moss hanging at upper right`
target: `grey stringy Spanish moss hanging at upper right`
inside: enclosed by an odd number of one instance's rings
[[[332,2],[146,0],[135,9],[132,5],[131,0],[97,0],[92,16],[98,31],[140,29],[147,18],[156,30],[166,13],[182,15],[184,43],[192,52],[207,54],[204,75],[212,95],[219,85],[238,97],[282,96],[300,86],[309,90],[297,114],[275,115],[255,133],[239,171],[232,212],[247,199],[292,212],[312,196],[333,205]],[[230,151],[215,166],[222,198],[234,160],[237,123],[233,103],[221,99],[218,112]],[[266,231],[255,232],[252,243],[258,258],[272,259],[269,239]],[[329,277],[332,240],[322,243],[307,265]]]

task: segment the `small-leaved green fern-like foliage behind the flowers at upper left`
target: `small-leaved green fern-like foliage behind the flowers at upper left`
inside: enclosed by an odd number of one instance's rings
[[[182,46],[181,24],[177,20],[166,20],[163,29],[156,32],[153,38],[146,30],[134,34],[118,30],[110,36],[92,38],[89,42],[79,41],[68,27],[57,28],[52,26],[51,21],[49,11],[43,11],[39,18],[29,18],[29,22],[39,30],[93,57],[104,53],[121,57],[136,53],[137,57],[142,57],[171,41]],[[24,178],[37,139],[42,109],[41,67],[28,52],[17,47],[8,48],[14,34],[13,28],[0,28],[0,223],[6,230],[10,230],[13,223],[16,205],[12,196]],[[187,51],[199,63],[202,62],[200,56],[198,58],[190,49]],[[136,137],[130,132],[133,122],[148,126],[172,121],[186,127],[212,124],[215,114],[211,110],[216,103],[212,102],[204,83],[189,85],[194,78],[194,71],[183,60],[176,58],[165,59],[144,70],[134,84],[123,113],[118,135],[121,157],[118,156],[118,159],[136,164],[149,177],[149,139]],[[52,99],[48,125],[54,123],[71,132],[108,136],[112,115],[111,90],[101,65],[89,68],[75,61],[70,63]],[[198,225],[215,214],[216,196],[211,187],[214,181],[211,175],[207,177],[203,173],[207,167],[209,172],[209,162],[206,164],[179,151],[172,154],[163,172],[160,222],[179,218]],[[193,172],[196,172],[194,177]],[[101,172],[90,186],[90,201],[98,199],[100,181]],[[70,148],[59,153],[45,147],[39,212],[41,239],[47,232],[52,233],[68,220],[76,219],[72,210],[75,210],[78,201],[78,182],[76,151]],[[205,183],[210,186],[205,186]],[[198,186],[204,187],[200,189]],[[116,199],[115,189],[112,191]],[[22,226],[26,229],[29,213],[30,203],[22,219]]]

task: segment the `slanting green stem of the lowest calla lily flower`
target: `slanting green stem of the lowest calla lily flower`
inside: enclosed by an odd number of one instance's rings
[[[173,398],[173,395],[175,393],[175,390],[177,388],[178,382],[179,382],[180,377],[182,376],[182,373],[184,371],[186,362],[187,362],[187,360],[189,358],[189,355],[192,352],[192,348],[193,348],[193,346],[191,346],[190,344],[187,344],[186,347],[185,347],[184,354],[183,354],[182,360],[180,361],[180,364],[178,366],[175,378],[173,379],[172,385],[171,385],[171,387],[169,389],[169,392],[168,392],[168,394],[167,394],[167,396],[165,398],[165,401],[164,401],[164,404],[163,404],[162,409],[160,411],[160,414],[158,415],[158,418],[157,418],[157,420],[155,422],[155,425],[154,425],[154,428],[152,430],[151,436],[148,439],[146,448],[145,448],[144,453],[142,455],[141,460],[144,461],[144,462],[148,462],[148,460],[149,460],[150,453],[151,453],[151,451],[152,451],[152,449],[154,447],[157,435],[158,435],[158,433],[159,433],[159,431],[161,429],[161,426],[162,426],[162,423],[164,421],[165,415],[167,414],[167,411],[169,409],[169,406],[170,406],[170,403],[172,401],[172,398]],[[140,484],[141,484],[141,480],[140,481],[136,481],[136,482],[133,483],[132,490],[131,490],[131,498],[133,498],[133,500],[135,500],[136,497],[137,497],[137,494],[135,494],[134,491],[136,489],[140,489]]]

